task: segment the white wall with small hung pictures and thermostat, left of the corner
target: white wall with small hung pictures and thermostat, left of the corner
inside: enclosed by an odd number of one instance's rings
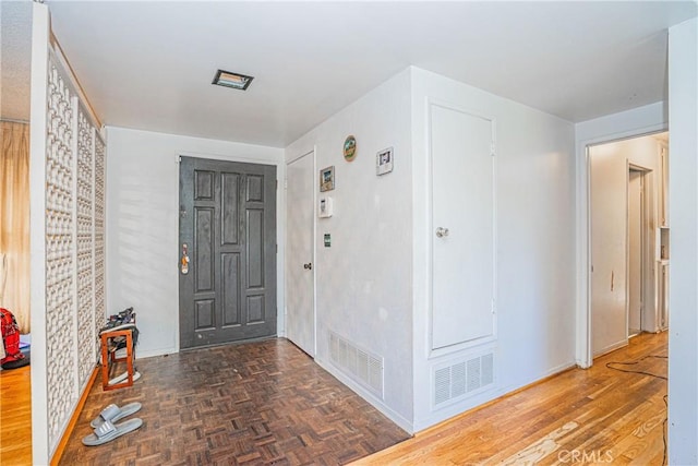
[[[410,75],[406,70],[286,148],[287,159],[317,147],[317,167],[335,166],[335,214],[317,219],[316,361],[410,430],[412,419]],[[357,157],[342,157],[357,138]],[[394,170],[375,175],[376,153],[394,148]],[[323,235],[332,235],[332,247]],[[328,332],[384,358],[384,399],[330,361]]]

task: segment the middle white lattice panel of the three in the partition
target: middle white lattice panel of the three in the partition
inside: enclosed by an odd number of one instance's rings
[[[77,111],[77,367],[80,380],[94,369],[96,334],[93,303],[93,152],[95,129],[82,106]]]

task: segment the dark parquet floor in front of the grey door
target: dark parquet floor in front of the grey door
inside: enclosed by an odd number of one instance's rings
[[[62,465],[347,464],[409,435],[286,339],[136,361],[132,387],[93,386]],[[140,402],[143,426],[86,447],[109,403]]]

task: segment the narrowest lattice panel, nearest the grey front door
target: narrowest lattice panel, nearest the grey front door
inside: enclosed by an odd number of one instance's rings
[[[105,324],[105,164],[106,147],[95,139],[95,335]]]

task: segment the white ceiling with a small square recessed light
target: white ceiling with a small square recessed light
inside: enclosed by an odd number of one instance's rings
[[[694,1],[47,4],[105,124],[279,147],[410,64],[573,122],[662,100],[666,28],[697,14]],[[219,68],[255,79],[213,86]]]

